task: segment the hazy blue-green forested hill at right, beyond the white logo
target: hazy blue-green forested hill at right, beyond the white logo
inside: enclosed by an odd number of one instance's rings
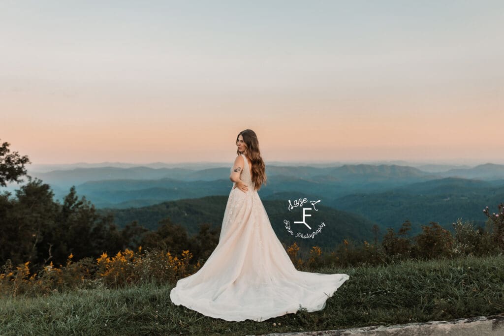
[[[497,184],[449,177],[383,192],[349,194],[330,205],[361,214],[382,228],[397,229],[409,219],[413,233],[418,233],[421,225],[428,225],[431,221],[451,229],[458,218],[484,226],[487,218],[482,213],[483,208],[496,208],[504,201],[504,186]]]

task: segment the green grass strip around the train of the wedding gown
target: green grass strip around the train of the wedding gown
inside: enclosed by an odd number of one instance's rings
[[[319,272],[346,273],[350,280],[318,312],[298,311],[263,322],[227,322],[174,306],[169,298],[172,286],[142,284],[0,299],[0,334],[244,335],[504,312],[504,256],[326,267]]]

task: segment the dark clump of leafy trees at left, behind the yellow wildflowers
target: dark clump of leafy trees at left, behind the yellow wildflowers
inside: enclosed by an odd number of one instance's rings
[[[59,204],[48,184],[29,177],[16,196],[0,194],[0,264],[30,261],[39,269],[49,261],[65,263],[70,253],[74,260],[115,254],[127,243],[113,217],[98,215],[75,187]]]

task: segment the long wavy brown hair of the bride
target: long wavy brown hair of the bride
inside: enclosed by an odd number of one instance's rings
[[[251,129],[245,129],[238,133],[236,136],[236,141],[240,135],[243,137],[243,142],[246,146],[245,156],[250,163],[250,177],[254,181],[255,189],[261,189],[261,184],[266,185],[266,165],[264,164],[263,158],[261,157],[261,151],[259,150],[259,140],[256,132]],[[236,149],[236,154],[240,155],[238,149]]]

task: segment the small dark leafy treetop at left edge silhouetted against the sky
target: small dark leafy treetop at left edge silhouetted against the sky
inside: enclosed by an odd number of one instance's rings
[[[0,147],[0,186],[7,186],[7,182],[21,182],[21,176],[26,175],[25,165],[31,163],[28,156],[20,156],[18,152],[9,149],[9,143]]]

